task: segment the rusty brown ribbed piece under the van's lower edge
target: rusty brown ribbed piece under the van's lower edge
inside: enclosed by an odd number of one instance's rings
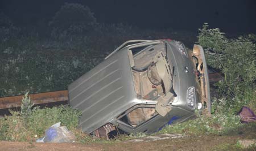
[[[108,123],[105,126],[102,126],[98,128],[97,130],[94,131],[96,137],[102,138],[105,137],[109,139],[109,132],[115,131],[115,126],[112,124]]]

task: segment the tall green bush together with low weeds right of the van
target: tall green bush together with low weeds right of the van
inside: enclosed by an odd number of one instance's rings
[[[224,79],[215,84],[217,94],[211,98],[212,117],[198,114],[197,119],[167,126],[162,132],[222,135],[245,126],[238,116],[241,108],[247,106],[256,111],[255,42],[255,34],[227,38],[220,29],[209,29],[204,24],[197,43],[205,50],[208,66],[224,74]]]

